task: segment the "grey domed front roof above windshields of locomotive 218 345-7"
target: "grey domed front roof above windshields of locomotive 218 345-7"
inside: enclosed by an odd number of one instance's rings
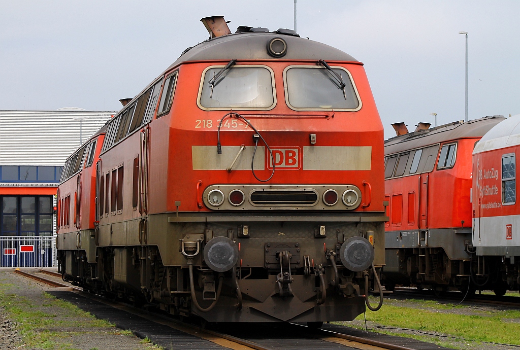
[[[267,53],[267,43],[270,39],[279,37],[287,43],[287,54],[282,60],[326,60],[354,61],[357,60],[342,50],[332,46],[304,39],[299,36],[270,32],[245,32],[219,36],[208,39],[183,54],[168,68],[199,60],[274,60]]]

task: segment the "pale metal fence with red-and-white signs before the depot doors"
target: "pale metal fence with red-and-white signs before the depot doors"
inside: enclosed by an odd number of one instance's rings
[[[0,267],[56,265],[56,236],[0,236]]]

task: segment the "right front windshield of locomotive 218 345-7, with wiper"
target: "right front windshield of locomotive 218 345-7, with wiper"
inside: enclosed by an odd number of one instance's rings
[[[293,109],[356,110],[359,99],[346,70],[315,67],[289,68],[285,72],[287,104]],[[343,84],[337,83],[335,76]]]

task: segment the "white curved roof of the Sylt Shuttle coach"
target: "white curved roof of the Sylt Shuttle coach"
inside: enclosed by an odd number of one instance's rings
[[[478,141],[473,154],[503,149],[520,144],[520,114],[495,125]]]

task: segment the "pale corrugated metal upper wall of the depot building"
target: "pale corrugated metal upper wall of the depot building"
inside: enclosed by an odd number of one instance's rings
[[[0,165],[63,165],[116,113],[0,111]]]

